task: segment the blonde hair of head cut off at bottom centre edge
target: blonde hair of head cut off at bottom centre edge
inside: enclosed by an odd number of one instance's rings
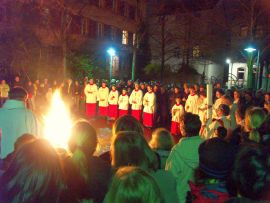
[[[141,168],[128,166],[116,172],[105,202],[162,203],[164,201],[152,176]]]

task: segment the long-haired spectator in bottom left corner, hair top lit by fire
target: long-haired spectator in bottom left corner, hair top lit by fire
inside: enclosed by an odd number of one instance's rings
[[[59,156],[47,141],[41,139],[17,150],[0,182],[0,193],[4,198],[0,197],[1,202],[60,203],[63,202],[61,197],[68,195]]]

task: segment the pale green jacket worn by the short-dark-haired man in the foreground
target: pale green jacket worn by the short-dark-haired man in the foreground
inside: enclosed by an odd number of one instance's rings
[[[189,181],[194,181],[194,171],[199,166],[200,136],[184,137],[172,149],[165,169],[171,171],[177,182],[179,202],[186,202]]]

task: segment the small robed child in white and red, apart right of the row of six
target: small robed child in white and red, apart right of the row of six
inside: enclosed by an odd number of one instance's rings
[[[181,116],[184,114],[184,107],[181,104],[180,97],[175,98],[175,104],[172,107],[171,113],[172,113],[171,134],[173,136],[180,135],[179,123]]]

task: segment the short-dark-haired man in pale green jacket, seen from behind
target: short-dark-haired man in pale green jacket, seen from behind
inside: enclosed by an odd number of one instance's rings
[[[188,181],[194,181],[194,171],[199,166],[198,149],[203,142],[199,136],[200,129],[201,121],[198,115],[184,114],[180,122],[181,134],[184,137],[173,147],[167,159],[165,169],[176,178],[179,202],[186,201],[186,194],[189,191]]]

